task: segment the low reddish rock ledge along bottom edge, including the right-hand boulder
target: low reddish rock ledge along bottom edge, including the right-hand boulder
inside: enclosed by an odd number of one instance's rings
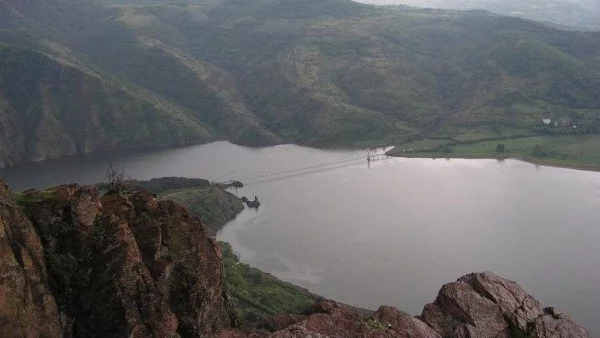
[[[569,316],[542,308],[515,282],[491,272],[473,273],[446,284],[420,318],[391,306],[360,315],[331,300],[306,315],[278,315],[268,331],[224,330],[217,337],[402,337],[402,338],[590,338]]]

